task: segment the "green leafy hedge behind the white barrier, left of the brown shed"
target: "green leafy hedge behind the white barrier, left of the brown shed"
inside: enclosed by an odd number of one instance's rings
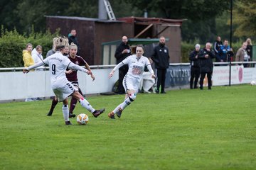
[[[0,67],[23,67],[22,51],[26,48],[27,43],[31,43],[33,48],[36,45],[43,47],[43,57],[53,47],[53,38],[58,35],[51,34],[49,30],[46,33],[32,33],[28,36],[19,34],[16,29],[4,30],[1,26],[0,36]]]

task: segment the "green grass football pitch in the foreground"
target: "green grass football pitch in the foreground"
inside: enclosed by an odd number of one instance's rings
[[[255,169],[256,86],[138,94],[122,118],[107,113],[124,96],[90,96],[88,125],[64,125],[50,100],[0,104],[0,169]]]

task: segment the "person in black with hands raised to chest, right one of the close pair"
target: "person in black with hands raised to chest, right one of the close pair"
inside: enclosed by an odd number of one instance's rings
[[[210,50],[211,44],[210,42],[206,43],[206,47],[204,47],[198,53],[199,61],[200,61],[200,89],[203,90],[203,79],[206,77],[208,79],[208,89],[211,89],[212,81],[211,76],[213,74],[213,58],[215,58],[215,54],[213,50]]]

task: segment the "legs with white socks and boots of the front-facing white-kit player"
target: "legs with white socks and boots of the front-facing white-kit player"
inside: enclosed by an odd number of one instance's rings
[[[114,111],[110,112],[108,114],[109,118],[114,119],[114,114],[117,114],[117,117],[120,118],[122,115],[122,111],[124,111],[124,108],[126,108],[132,101],[134,101],[136,98],[136,94],[134,90],[127,90],[127,94],[125,94],[124,102],[120,103],[119,106],[114,108]]]

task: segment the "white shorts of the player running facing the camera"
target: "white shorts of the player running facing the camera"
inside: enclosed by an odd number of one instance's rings
[[[140,79],[129,77],[127,74],[124,76],[123,86],[124,86],[125,93],[127,93],[127,90],[134,90],[135,94],[137,94],[139,92],[139,85],[140,85]]]

